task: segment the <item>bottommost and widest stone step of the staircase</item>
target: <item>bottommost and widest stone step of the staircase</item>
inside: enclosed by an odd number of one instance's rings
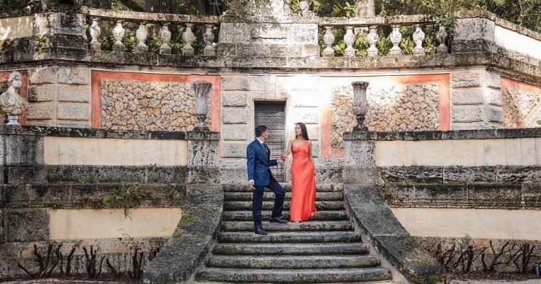
[[[231,283],[341,283],[391,280],[385,268],[231,269],[204,268],[196,279]]]

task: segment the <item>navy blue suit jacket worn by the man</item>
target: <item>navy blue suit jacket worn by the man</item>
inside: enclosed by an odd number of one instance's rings
[[[256,186],[265,186],[274,180],[271,167],[278,165],[278,160],[271,160],[271,153],[266,153],[265,147],[256,139],[246,147],[246,168],[248,168],[248,181],[253,180]]]

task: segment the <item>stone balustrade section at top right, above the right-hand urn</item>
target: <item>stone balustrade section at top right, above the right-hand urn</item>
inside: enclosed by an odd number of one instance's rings
[[[389,38],[392,48],[389,55],[425,55],[426,33],[434,32],[437,40],[437,53],[447,53],[448,48],[446,40],[448,33],[444,26],[436,24],[433,16],[427,15],[409,15],[409,16],[388,16],[372,18],[322,18],[319,21],[320,32],[323,32],[322,43],[325,49],[322,52],[323,57],[335,56],[333,46],[340,40],[335,36],[335,31],[344,30],[343,36],[346,49],[344,56],[355,57],[354,43],[358,37],[366,36],[369,47],[367,56],[377,57],[382,53],[378,50],[378,41],[381,38]],[[436,31],[437,28],[437,31]],[[426,33],[425,33],[426,31]],[[409,35],[411,34],[411,35]],[[412,50],[404,50],[401,43],[406,40],[406,36],[411,36],[414,43]]]

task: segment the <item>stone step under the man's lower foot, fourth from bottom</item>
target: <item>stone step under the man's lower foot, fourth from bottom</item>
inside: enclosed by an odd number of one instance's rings
[[[277,231],[266,236],[253,232],[222,232],[218,234],[218,241],[222,243],[347,243],[361,241],[361,236],[354,231]]]

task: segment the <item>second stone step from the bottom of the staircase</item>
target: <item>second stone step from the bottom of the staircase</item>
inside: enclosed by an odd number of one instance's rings
[[[379,266],[376,256],[213,256],[207,267],[250,269],[324,269]]]

